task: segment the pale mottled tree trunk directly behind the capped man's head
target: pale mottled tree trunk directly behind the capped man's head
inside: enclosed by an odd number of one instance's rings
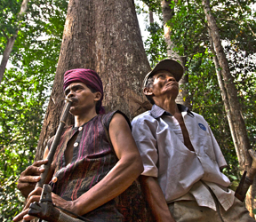
[[[174,9],[171,9],[170,4],[171,0],[162,1],[162,12],[163,12],[163,20],[164,20],[164,38],[165,43],[167,44],[167,55],[171,59],[175,59],[180,61],[180,64],[182,67],[185,68],[186,64],[186,57],[181,57],[177,52],[173,51],[174,44],[171,40],[171,30],[170,26],[168,26],[166,23],[172,19],[172,16],[174,15]],[[169,24],[170,25],[170,24]],[[188,75],[186,74],[186,68],[184,69],[184,75],[180,79],[179,85],[180,85],[180,92],[176,99],[176,102],[179,104],[182,104],[186,107],[190,108],[190,100],[188,98],[188,90],[186,89],[186,85],[188,84]]]

